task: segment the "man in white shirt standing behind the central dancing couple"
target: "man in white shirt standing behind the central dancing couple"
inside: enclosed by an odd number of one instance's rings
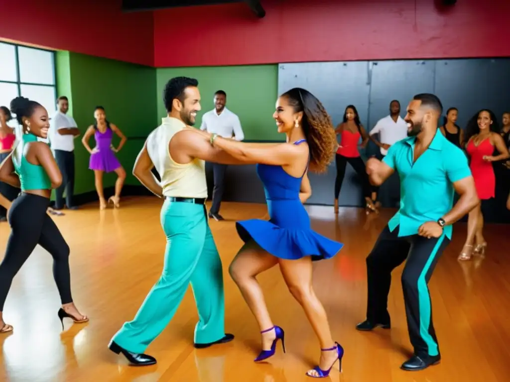
[[[202,117],[202,125],[200,130],[205,130],[210,133],[216,133],[223,138],[234,138],[236,141],[244,139],[243,129],[239,117],[228,110],[226,107],[226,93],[223,90],[218,90],[214,93],[214,109],[207,112]],[[221,163],[213,163],[214,174],[214,188],[213,188],[213,203],[209,210],[209,217],[216,221],[223,220],[223,216],[219,214],[221,197],[225,186],[223,180],[225,178],[226,165]]]

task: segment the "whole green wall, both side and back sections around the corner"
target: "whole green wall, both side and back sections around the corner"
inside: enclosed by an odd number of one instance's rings
[[[171,77],[198,79],[202,110],[197,127],[203,113],[213,109],[214,93],[221,89],[227,93],[227,107],[241,120],[246,140],[283,139],[272,119],[277,65],[151,68],[68,51],[58,51],[55,61],[58,96],[69,98],[69,114],[77,122],[81,137],[94,123],[93,111],[98,105],[105,107],[108,120],[126,135],[127,142],[117,156],[127,172],[127,185],[140,184],[131,174],[133,164],[147,135],[166,116],[162,94]],[[74,141],[75,195],[95,190],[94,174],[88,169],[90,154],[81,137]],[[114,145],[118,142],[115,137]],[[89,144],[93,147],[93,138]],[[113,186],[115,179],[114,173],[105,174],[104,186]]]

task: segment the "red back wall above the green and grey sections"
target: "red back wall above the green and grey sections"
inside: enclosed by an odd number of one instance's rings
[[[510,1],[262,0],[155,12],[155,65],[510,56]]]

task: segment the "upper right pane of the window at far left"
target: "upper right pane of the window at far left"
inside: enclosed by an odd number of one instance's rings
[[[26,46],[18,47],[19,81],[55,85],[53,52]]]

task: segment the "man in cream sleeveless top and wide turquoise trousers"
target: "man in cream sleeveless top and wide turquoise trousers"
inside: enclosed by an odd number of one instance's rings
[[[156,358],[143,352],[170,322],[189,284],[199,317],[195,347],[234,339],[224,332],[223,271],[205,207],[205,160],[225,164],[232,164],[233,160],[189,127],[200,110],[197,86],[198,81],[193,78],[175,77],[168,81],[163,95],[168,117],[149,134],[133,169],[145,187],[165,199],[161,225],[167,239],[160,279],[135,318],[122,325],[109,345],[134,365],[156,363]],[[152,168],[156,168],[161,181],[151,173]]]

